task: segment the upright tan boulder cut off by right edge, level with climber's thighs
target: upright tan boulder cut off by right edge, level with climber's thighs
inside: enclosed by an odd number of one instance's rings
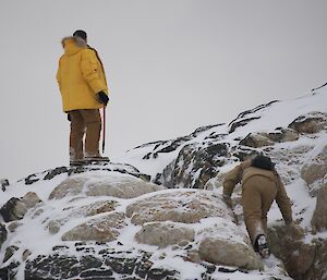
[[[316,231],[327,230],[327,184],[318,192],[317,204],[311,224]]]

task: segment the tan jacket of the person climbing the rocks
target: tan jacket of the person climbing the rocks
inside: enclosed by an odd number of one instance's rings
[[[254,176],[261,175],[276,182],[277,194],[275,200],[282,214],[286,223],[292,221],[291,202],[284,190],[284,185],[280,180],[277,171],[264,170],[261,168],[251,167],[251,161],[244,161],[227,173],[223,181],[223,196],[231,197],[231,194],[238,183],[242,184],[242,188],[246,181]]]

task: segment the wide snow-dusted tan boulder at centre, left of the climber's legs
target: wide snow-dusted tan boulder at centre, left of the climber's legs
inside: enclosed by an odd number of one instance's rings
[[[152,221],[194,223],[207,217],[234,219],[233,212],[221,197],[203,190],[166,191],[154,194],[129,205],[126,216],[134,224]]]

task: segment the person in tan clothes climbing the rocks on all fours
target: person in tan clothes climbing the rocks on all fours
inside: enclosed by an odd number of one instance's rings
[[[254,249],[262,257],[266,257],[269,255],[266,240],[267,212],[276,199],[286,224],[292,223],[290,198],[275,169],[275,163],[269,157],[263,155],[242,162],[227,173],[223,181],[223,200],[230,207],[232,206],[231,194],[240,182],[246,230]]]

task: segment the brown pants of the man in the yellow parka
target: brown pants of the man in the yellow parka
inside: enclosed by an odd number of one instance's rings
[[[71,117],[70,160],[99,156],[101,117],[98,109],[73,110]],[[83,138],[85,135],[85,146]]]

